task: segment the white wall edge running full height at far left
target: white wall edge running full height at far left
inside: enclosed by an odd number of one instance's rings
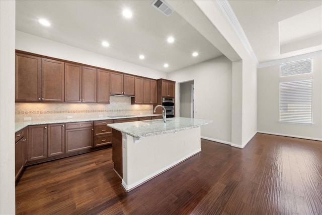
[[[0,1],[0,214],[15,214],[16,2]]]

